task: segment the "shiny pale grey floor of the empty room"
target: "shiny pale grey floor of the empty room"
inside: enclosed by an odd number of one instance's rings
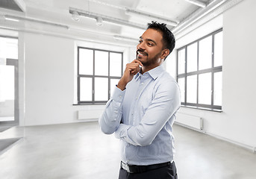
[[[174,125],[179,179],[255,179],[256,154]],[[0,155],[4,179],[115,179],[119,141],[97,122],[10,128],[0,135],[25,137]]]

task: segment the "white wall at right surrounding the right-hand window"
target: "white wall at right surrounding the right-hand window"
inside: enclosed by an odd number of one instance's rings
[[[217,136],[243,145],[247,148],[256,146],[256,1],[244,0],[227,10],[223,15],[223,81],[222,113],[206,110],[194,110],[181,107],[180,113],[201,116],[207,134]],[[216,19],[220,18],[216,17]],[[202,28],[219,28],[221,21],[212,26],[209,22],[191,34],[198,34]],[[205,31],[207,32],[207,31]],[[184,45],[191,34],[178,40]],[[206,33],[207,34],[207,33]],[[202,34],[202,35],[206,35]]]

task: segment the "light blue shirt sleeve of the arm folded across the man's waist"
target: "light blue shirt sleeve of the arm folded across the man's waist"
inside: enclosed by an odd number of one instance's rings
[[[175,82],[161,84],[140,123],[136,126],[120,124],[115,132],[116,138],[132,145],[150,145],[166,122],[179,109],[180,104],[178,84]]]

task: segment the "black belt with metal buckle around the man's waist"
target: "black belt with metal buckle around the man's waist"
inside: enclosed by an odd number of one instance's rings
[[[128,173],[142,173],[142,172],[147,172],[147,171],[153,170],[153,169],[159,169],[164,166],[169,166],[170,164],[172,164],[172,163],[167,162],[167,163],[159,163],[159,164],[154,164],[154,165],[149,165],[149,166],[134,166],[134,165],[128,165],[121,161],[121,169],[125,169],[126,172],[128,172]]]

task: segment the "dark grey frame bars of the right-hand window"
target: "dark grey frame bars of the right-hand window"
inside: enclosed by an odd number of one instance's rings
[[[185,94],[184,94],[184,101],[181,101],[181,104],[183,106],[186,106],[186,107],[199,107],[199,108],[202,108],[202,109],[210,109],[210,110],[222,110],[222,106],[220,105],[214,105],[214,96],[213,96],[213,93],[214,93],[214,74],[216,72],[222,72],[222,66],[214,66],[214,37],[215,37],[215,34],[218,34],[219,32],[222,32],[222,29],[219,29],[217,31],[214,31],[213,33],[211,34],[208,34],[207,36],[205,37],[202,37],[200,38],[199,40],[196,40],[190,44],[187,44],[181,48],[178,48],[177,50],[177,81],[179,82],[179,79],[180,78],[184,78],[184,91],[185,91]],[[207,37],[211,37],[211,68],[209,69],[200,69],[199,70],[199,42],[201,40],[204,40],[205,38]],[[194,72],[187,72],[187,47],[193,43],[197,43],[197,70],[194,71]],[[179,51],[182,51],[185,49],[185,63],[184,63],[184,73],[181,73],[179,74],[178,73],[178,69],[179,69]],[[211,102],[210,104],[199,104],[199,75],[202,75],[202,74],[206,74],[206,73],[210,73],[211,75],[211,96],[210,96],[210,99],[211,99]],[[190,77],[192,75],[196,75],[196,78],[197,78],[197,81],[196,81],[196,103],[190,103],[190,102],[187,102],[187,77]]]

